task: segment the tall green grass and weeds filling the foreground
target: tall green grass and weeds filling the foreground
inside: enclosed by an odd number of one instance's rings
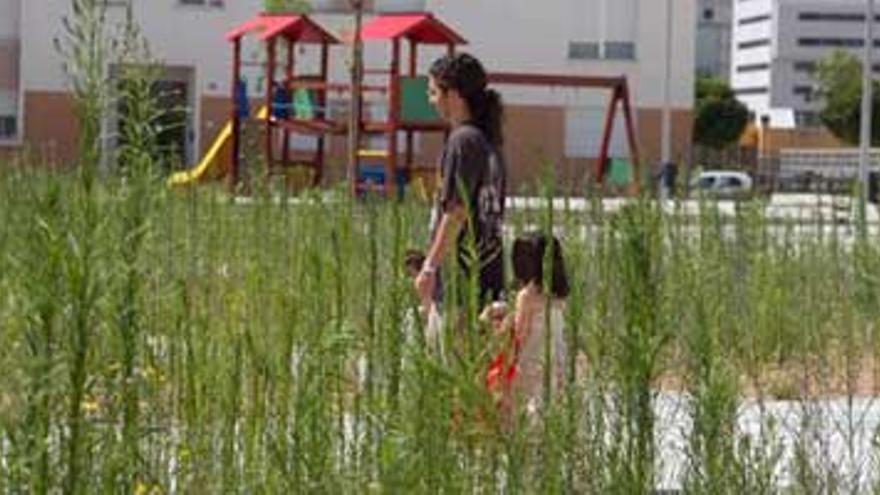
[[[473,297],[449,302],[445,355],[408,333],[425,205],[259,177],[247,201],[166,189],[148,51],[129,25],[107,53],[136,63],[106,84],[100,5],[74,3],[80,163],[0,169],[0,491],[643,493],[668,482],[670,430],[688,492],[776,492],[785,469],[799,492],[862,487],[817,447],[814,399],[848,399],[855,452],[880,349],[864,217],[813,235],[759,202],[553,210],[548,176],[507,235],[561,239],[572,359],[561,399],[511,426],[482,389]],[[120,97],[125,145],[100,173],[96,122]],[[799,406],[789,464],[777,399]]]

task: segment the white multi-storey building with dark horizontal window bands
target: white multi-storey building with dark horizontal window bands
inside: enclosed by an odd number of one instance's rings
[[[835,50],[861,58],[865,5],[865,0],[737,0],[731,61],[737,97],[774,127],[819,125],[816,64]]]

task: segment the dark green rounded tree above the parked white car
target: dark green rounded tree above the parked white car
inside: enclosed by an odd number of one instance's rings
[[[694,141],[721,149],[736,142],[749,120],[749,110],[724,81],[697,78]]]

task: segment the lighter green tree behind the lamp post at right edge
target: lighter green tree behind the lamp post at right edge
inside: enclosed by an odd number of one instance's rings
[[[819,119],[847,144],[858,144],[862,118],[862,63],[854,55],[836,51],[821,60],[816,71],[823,106]],[[880,86],[874,81],[871,144],[880,144]]]

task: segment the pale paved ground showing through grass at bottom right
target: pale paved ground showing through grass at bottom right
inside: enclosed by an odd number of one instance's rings
[[[657,418],[658,489],[680,490],[687,472],[691,432],[689,398],[661,393]],[[737,435],[749,437],[764,452],[779,455],[775,484],[791,487],[800,449],[819,479],[830,474],[840,483],[834,493],[872,492],[880,482],[880,397],[815,401],[745,401],[740,404]],[[763,439],[763,440],[762,440]]]

